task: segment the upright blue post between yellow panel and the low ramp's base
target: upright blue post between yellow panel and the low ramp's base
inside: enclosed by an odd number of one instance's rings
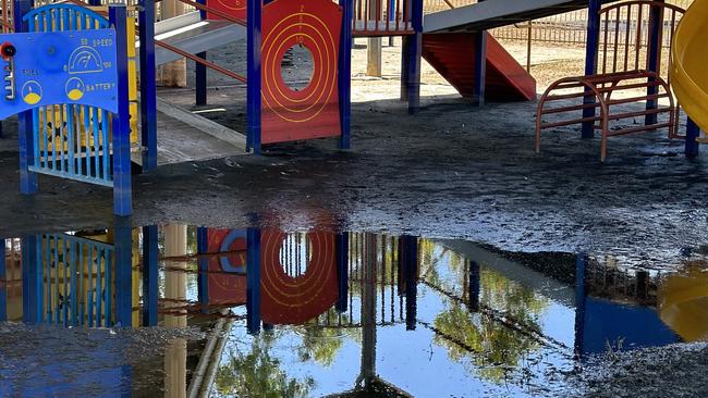
[[[148,172],[157,169],[155,0],[141,0],[137,17],[141,27],[141,145],[143,146],[143,171]]]

